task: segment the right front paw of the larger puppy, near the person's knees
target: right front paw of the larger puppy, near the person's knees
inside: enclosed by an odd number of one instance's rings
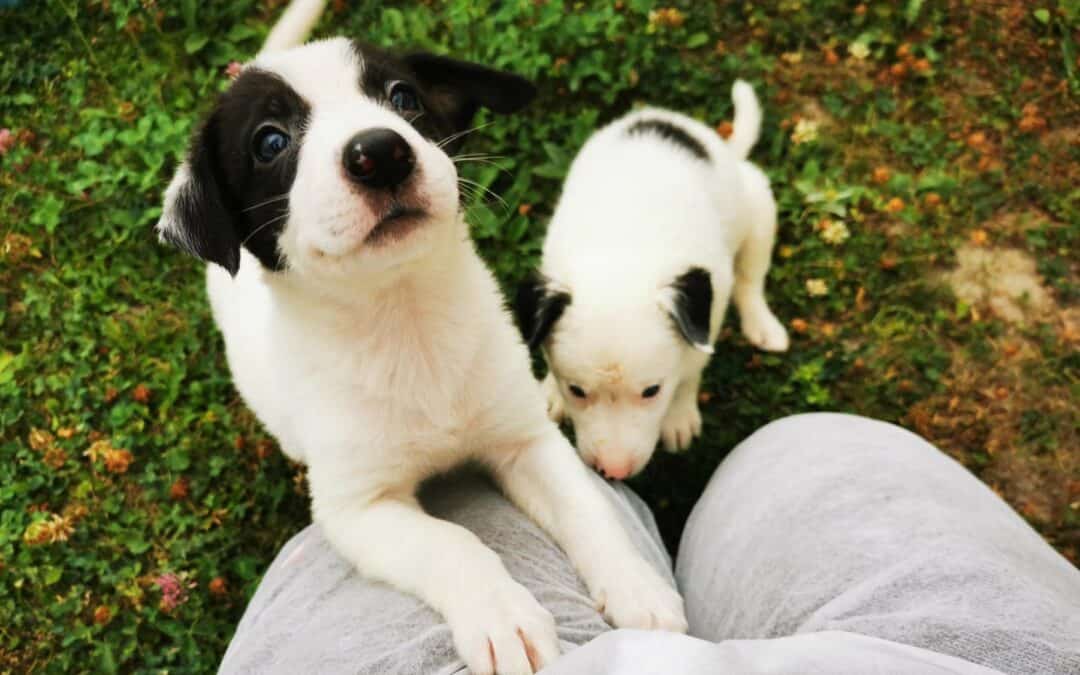
[[[644,561],[621,566],[592,593],[597,609],[617,629],[686,633],[683,597]]]

